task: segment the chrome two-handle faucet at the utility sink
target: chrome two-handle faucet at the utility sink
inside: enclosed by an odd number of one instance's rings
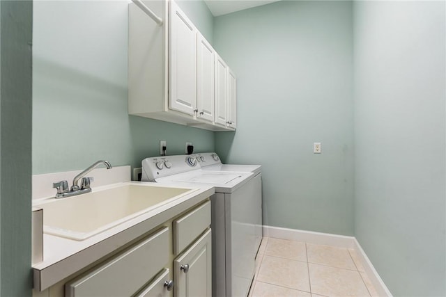
[[[80,172],[78,175],[75,176],[75,178],[72,180],[72,186],[70,191],[68,191],[68,182],[66,180],[62,180],[60,182],[55,182],[53,184],[53,188],[57,189],[56,198],[64,198],[64,197],[70,197],[75,195],[80,195],[83,193],[89,193],[91,192],[90,184],[93,182],[93,177],[84,177],[94,168],[100,166],[101,164],[104,164],[107,169],[111,169],[112,165],[109,161],[100,160],[93,165],[86,168],[86,170]],[[82,177],[82,179],[81,179]],[[81,179],[81,186],[77,184],[79,182],[79,179]]]

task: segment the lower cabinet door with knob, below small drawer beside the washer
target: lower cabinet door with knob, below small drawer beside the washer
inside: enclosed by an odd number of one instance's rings
[[[175,297],[212,295],[211,230],[174,260]]]

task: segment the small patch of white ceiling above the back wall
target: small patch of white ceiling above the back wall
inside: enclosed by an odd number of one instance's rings
[[[214,17],[280,0],[204,0]]]

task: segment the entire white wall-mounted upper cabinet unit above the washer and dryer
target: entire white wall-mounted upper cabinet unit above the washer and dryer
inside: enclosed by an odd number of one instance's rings
[[[144,5],[163,22],[158,25],[129,4],[128,113],[212,131],[234,130],[235,104],[228,100],[235,100],[235,81],[229,81],[228,65],[175,1]]]

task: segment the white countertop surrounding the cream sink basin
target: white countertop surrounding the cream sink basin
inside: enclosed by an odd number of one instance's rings
[[[124,182],[98,187],[93,189],[93,191],[102,191],[125,184],[166,186],[150,182]],[[184,188],[184,186],[182,187]],[[53,284],[89,266],[89,264],[105,257],[172,217],[193,207],[195,204],[206,200],[214,193],[213,186],[200,186],[199,188],[193,186],[188,188],[194,188],[196,191],[162,204],[160,207],[150,209],[144,214],[83,241],[43,234],[43,262],[32,266],[34,289],[43,291],[51,287]],[[41,200],[33,202],[38,204]]]

